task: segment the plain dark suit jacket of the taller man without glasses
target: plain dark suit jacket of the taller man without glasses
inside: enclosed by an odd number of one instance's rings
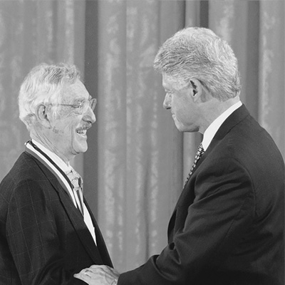
[[[177,202],[168,245],[118,285],[284,285],[284,160],[244,105]]]

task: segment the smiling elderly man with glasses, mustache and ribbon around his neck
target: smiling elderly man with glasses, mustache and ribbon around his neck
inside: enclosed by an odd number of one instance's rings
[[[76,66],[36,66],[19,93],[19,118],[31,140],[0,185],[0,284],[85,284],[73,274],[112,266],[71,167],[86,152],[96,99]]]

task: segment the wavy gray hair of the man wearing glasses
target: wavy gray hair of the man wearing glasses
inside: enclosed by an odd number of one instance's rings
[[[19,92],[19,118],[29,129],[33,124],[38,105],[52,105],[53,115],[57,115],[61,106],[64,90],[80,80],[80,73],[76,66],[59,63],[48,65],[41,63],[34,67],[21,84]]]

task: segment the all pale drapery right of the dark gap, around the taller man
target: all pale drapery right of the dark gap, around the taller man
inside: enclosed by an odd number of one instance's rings
[[[152,70],[160,44],[207,25],[232,45],[242,101],[284,145],[284,1],[98,2],[98,221],[120,270],[165,247],[199,135],[178,133]]]

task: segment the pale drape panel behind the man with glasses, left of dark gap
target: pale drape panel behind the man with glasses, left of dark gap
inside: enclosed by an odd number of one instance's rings
[[[28,132],[17,96],[39,63],[75,63],[84,71],[85,1],[0,0],[0,179],[24,150]],[[77,159],[82,172],[82,156]]]

